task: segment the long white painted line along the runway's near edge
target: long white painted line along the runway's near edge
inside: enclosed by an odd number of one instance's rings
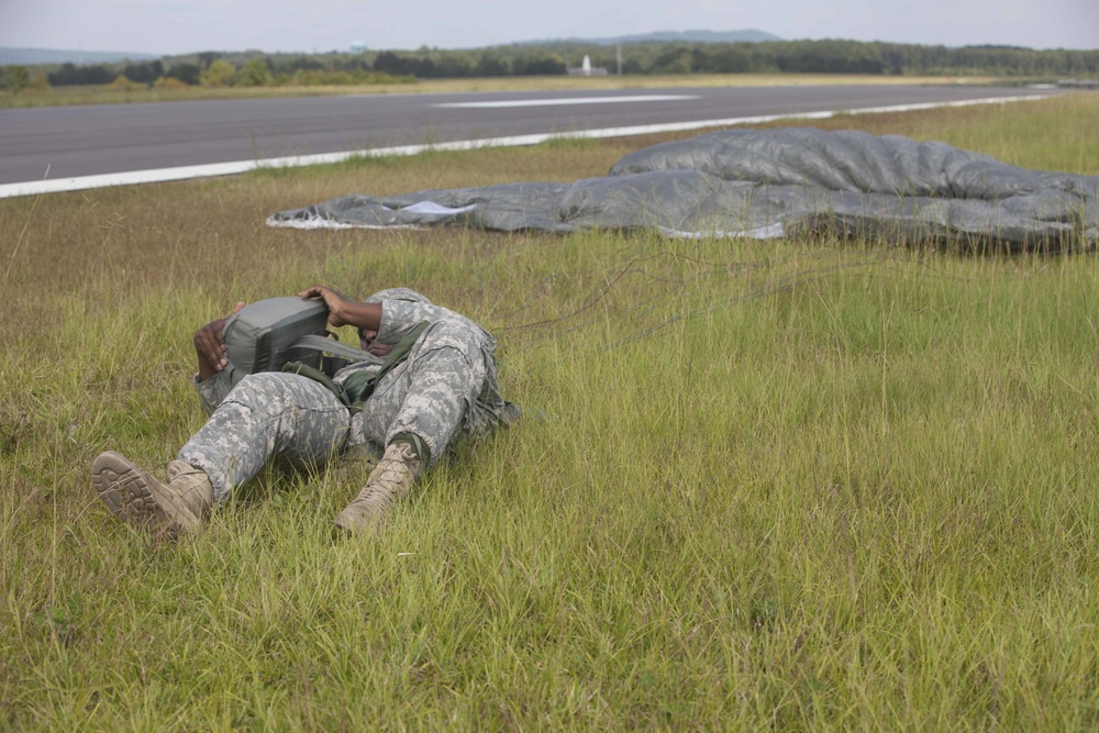
[[[387,155],[419,155],[426,151],[475,151],[482,147],[515,147],[520,145],[537,145],[548,140],[568,137],[629,137],[632,135],[650,135],[659,132],[681,132],[702,130],[706,127],[731,127],[742,124],[759,124],[776,120],[826,120],[836,114],[875,114],[879,112],[909,112],[930,110],[939,107],[972,107],[974,104],[1004,104],[1008,102],[1025,102],[1046,99],[1045,95],[1021,95],[1017,97],[995,97],[991,99],[967,99],[956,102],[926,102],[922,104],[896,104],[892,107],[873,107],[861,110],[829,110],[824,112],[802,112],[800,114],[765,114],[753,118],[729,118],[725,120],[696,120],[692,122],[671,122],[667,124],[635,125],[630,127],[604,127],[567,133],[537,133],[533,135],[514,135],[511,137],[489,137],[486,140],[463,140],[453,143],[434,143],[425,145],[401,145],[398,147],[376,147],[364,151],[347,151],[344,153],[322,153],[320,155],[301,155],[286,158],[267,158],[265,160],[236,160],[233,163],[213,163],[201,166],[182,166],[179,168],[158,168],[154,170],[133,170],[127,173],[103,174],[100,176],[80,176],[78,178],[57,178],[53,180],[33,180],[20,184],[0,185],[0,199],[15,196],[35,196],[40,193],[57,193],[60,191],[80,191],[89,188],[107,186],[135,186],[138,184],[158,184],[169,180],[186,180],[209,176],[232,176],[235,174],[258,170],[262,168],[291,168],[312,166],[324,163],[342,163],[354,157],[379,158]]]

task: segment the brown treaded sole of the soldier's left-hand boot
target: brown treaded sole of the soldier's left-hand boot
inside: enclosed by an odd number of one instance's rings
[[[148,532],[155,540],[175,541],[178,531],[157,499],[156,479],[124,456],[108,451],[91,464],[96,496],[130,526]]]

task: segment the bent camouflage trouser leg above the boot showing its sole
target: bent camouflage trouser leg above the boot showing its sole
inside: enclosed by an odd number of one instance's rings
[[[222,502],[269,457],[323,465],[343,447],[348,422],[347,408],[312,379],[249,375],[179,451],[178,459],[204,471],[214,501]]]

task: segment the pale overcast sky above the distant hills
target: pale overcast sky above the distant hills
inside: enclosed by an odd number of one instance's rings
[[[1099,0],[0,0],[0,46],[197,51],[469,48],[652,31],[1099,48]]]

